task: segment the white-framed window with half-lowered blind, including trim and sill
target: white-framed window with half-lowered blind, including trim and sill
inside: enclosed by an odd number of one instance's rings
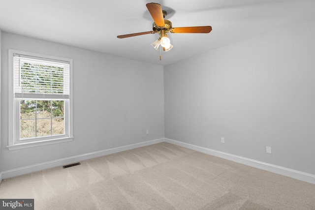
[[[72,60],[9,50],[9,150],[72,141]]]

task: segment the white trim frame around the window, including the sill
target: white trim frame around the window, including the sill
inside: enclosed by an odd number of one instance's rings
[[[44,140],[36,140],[36,141],[25,141],[25,142],[17,142],[17,133],[14,131],[14,127],[19,125],[14,125],[14,119],[16,118],[17,113],[14,112],[14,90],[13,90],[13,54],[21,54],[21,55],[29,55],[32,57],[38,57],[38,58],[44,58],[44,59],[52,59],[52,60],[64,60],[68,61],[70,64],[69,68],[69,74],[70,74],[70,95],[69,95],[69,112],[68,112],[68,128],[69,131],[66,134],[66,136],[52,136],[48,138],[44,138]],[[63,142],[69,142],[73,140],[73,100],[72,100],[72,84],[73,84],[73,79],[72,79],[72,59],[65,59],[61,57],[55,57],[55,56],[47,56],[47,55],[42,55],[42,54],[37,54],[37,53],[30,53],[30,52],[24,52],[24,51],[18,51],[18,50],[11,50],[9,49],[8,51],[8,68],[9,68],[9,95],[8,95],[8,111],[9,111],[9,120],[8,120],[8,125],[9,125],[9,139],[8,139],[8,150],[19,150],[19,149],[25,149],[25,148],[32,148],[32,147],[38,147],[38,146],[44,146],[44,145],[51,145],[51,144],[58,144],[58,143],[63,143]]]

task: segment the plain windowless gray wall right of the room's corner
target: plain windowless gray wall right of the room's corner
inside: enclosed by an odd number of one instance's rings
[[[314,37],[313,18],[164,66],[165,138],[315,174]]]

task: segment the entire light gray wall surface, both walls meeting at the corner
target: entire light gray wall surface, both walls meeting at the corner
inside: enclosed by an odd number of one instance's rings
[[[2,172],[165,136],[315,174],[314,19],[164,66],[164,75],[159,65],[0,36]],[[73,142],[6,149],[8,49],[73,59]]]

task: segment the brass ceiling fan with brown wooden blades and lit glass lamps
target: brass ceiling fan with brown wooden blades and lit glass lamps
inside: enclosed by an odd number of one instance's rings
[[[131,36],[139,36],[149,33],[158,33],[159,38],[151,45],[158,50],[159,45],[163,48],[163,51],[169,51],[173,46],[170,43],[169,38],[167,37],[168,32],[171,33],[209,33],[212,28],[211,26],[197,26],[197,27],[181,27],[181,28],[173,28],[172,22],[164,19],[167,15],[167,12],[162,10],[162,7],[158,3],[147,3],[146,4],[153,20],[153,30],[140,32],[140,33],[130,33],[125,35],[119,35],[117,38],[127,38]],[[161,60],[161,56],[160,56]]]

